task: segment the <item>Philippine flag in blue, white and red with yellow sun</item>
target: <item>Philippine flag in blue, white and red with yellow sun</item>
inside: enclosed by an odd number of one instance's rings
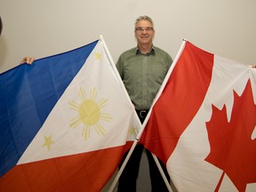
[[[100,191],[140,121],[100,40],[0,75],[0,191]]]

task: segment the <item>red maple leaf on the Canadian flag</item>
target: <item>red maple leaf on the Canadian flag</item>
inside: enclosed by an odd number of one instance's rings
[[[251,81],[246,84],[241,97],[234,92],[234,106],[228,123],[227,108],[212,105],[212,118],[206,123],[211,151],[207,162],[223,170],[239,191],[246,184],[256,182],[256,139],[252,132],[256,124],[256,105],[253,102]]]

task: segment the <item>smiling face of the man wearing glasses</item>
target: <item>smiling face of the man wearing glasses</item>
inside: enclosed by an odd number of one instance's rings
[[[140,20],[135,26],[135,37],[138,44],[152,44],[155,30],[148,20]]]

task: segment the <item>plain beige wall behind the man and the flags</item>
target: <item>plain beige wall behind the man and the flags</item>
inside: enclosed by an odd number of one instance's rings
[[[182,39],[221,57],[255,65],[256,0],[0,0],[0,73],[67,52],[103,36],[113,60],[136,45],[134,21],[155,21],[154,44],[175,58]],[[150,191],[143,156],[138,191]]]

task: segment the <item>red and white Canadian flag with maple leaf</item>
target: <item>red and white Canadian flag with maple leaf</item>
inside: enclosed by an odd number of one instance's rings
[[[256,69],[184,41],[140,142],[179,192],[256,190]]]

